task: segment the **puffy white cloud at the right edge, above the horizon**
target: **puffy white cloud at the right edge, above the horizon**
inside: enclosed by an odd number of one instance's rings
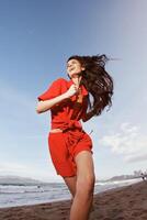
[[[110,146],[113,153],[122,155],[127,162],[147,160],[147,135],[142,134],[138,127],[127,122],[120,125],[120,131],[103,136],[100,142],[104,146]]]

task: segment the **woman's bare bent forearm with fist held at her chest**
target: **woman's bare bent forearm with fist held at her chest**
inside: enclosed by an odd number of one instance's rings
[[[37,102],[37,107],[36,107],[36,112],[37,113],[43,113],[47,110],[49,110],[52,107],[54,107],[55,105],[58,105],[59,102],[61,102],[65,99],[70,98],[71,96],[74,96],[75,94],[77,94],[78,88],[75,85],[71,85],[70,88],[63,95],[55,97],[53,99],[49,100],[41,100]]]

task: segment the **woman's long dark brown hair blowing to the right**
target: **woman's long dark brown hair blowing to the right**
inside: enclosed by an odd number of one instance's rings
[[[101,114],[106,106],[112,106],[113,79],[105,70],[105,63],[109,61],[106,55],[79,56],[72,55],[68,58],[77,59],[86,69],[81,72],[80,84],[92,95],[89,96],[89,109],[94,111],[95,116]],[[68,62],[67,61],[67,62]],[[108,109],[108,110],[109,110]]]

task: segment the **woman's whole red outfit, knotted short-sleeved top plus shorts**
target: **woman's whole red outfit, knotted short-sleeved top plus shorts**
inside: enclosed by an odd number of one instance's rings
[[[48,89],[37,97],[38,100],[49,100],[65,94],[72,85],[72,80],[64,78],[55,80]],[[77,167],[75,156],[81,151],[92,152],[91,138],[82,130],[80,119],[88,108],[88,91],[80,86],[82,102],[77,102],[72,96],[50,109],[52,129],[61,129],[63,132],[48,133],[48,147],[57,175],[63,177],[75,176]]]

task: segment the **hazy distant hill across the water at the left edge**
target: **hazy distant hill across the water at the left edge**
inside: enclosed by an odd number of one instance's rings
[[[1,185],[38,185],[43,184],[43,182],[27,178],[27,177],[20,177],[20,176],[0,176],[0,184]]]

